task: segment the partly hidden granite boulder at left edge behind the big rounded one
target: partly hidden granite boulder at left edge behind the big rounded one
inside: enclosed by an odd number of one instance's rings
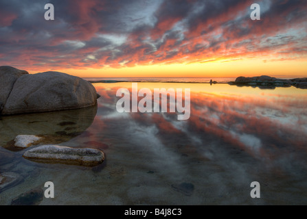
[[[27,75],[27,71],[19,70],[11,66],[0,66],[0,112],[13,89],[15,81],[22,75]]]

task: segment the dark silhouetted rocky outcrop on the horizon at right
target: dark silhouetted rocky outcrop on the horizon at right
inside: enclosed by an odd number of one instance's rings
[[[236,86],[253,86],[262,89],[275,89],[276,87],[288,88],[291,86],[306,89],[307,78],[279,79],[262,75],[258,77],[237,77],[236,81],[231,81],[228,84]]]

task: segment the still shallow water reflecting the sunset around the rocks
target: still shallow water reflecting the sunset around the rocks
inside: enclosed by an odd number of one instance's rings
[[[176,113],[117,112],[116,92],[131,83],[94,86],[97,107],[0,118],[0,174],[20,177],[0,193],[0,205],[46,181],[54,183],[55,198],[41,205],[307,203],[307,90],[138,83],[190,88],[190,118],[177,120]],[[94,168],[40,164],[23,159],[27,149],[7,146],[17,134],[41,132],[63,146],[101,149],[106,160]],[[250,196],[253,181],[261,198]]]

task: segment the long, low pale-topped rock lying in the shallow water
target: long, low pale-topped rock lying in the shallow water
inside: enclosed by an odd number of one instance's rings
[[[23,157],[34,162],[96,166],[104,162],[104,153],[98,149],[74,149],[67,146],[43,145],[26,151]]]

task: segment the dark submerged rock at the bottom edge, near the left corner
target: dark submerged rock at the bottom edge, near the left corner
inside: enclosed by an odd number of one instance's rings
[[[38,205],[43,201],[43,194],[41,188],[35,188],[14,198],[11,205]]]

